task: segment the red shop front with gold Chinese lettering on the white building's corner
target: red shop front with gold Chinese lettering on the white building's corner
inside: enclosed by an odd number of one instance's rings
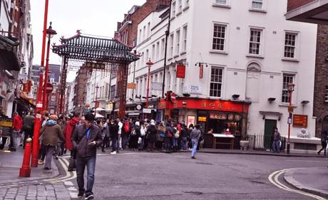
[[[247,131],[247,114],[250,103],[230,100],[208,100],[199,98],[177,98],[174,103],[161,100],[159,109],[173,121],[184,121],[186,125],[200,125],[207,132],[235,136],[235,148],[239,147],[240,136]],[[210,138],[210,137],[208,137]],[[205,138],[205,147],[212,147],[211,139]]]

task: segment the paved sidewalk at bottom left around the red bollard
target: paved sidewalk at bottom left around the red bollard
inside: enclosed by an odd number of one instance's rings
[[[16,152],[0,151],[0,199],[9,200],[63,200],[71,199],[67,186],[61,182],[51,182],[61,176],[53,159],[51,170],[44,170],[43,165],[31,168],[31,177],[19,177],[23,162],[24,149]]]

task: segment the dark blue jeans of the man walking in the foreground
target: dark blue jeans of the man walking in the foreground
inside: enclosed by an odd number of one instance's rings
[[[84,189],[84,169],[87,169],[86,189]],[[95,181],[96,156],[76,157],[76,180],[78,182],[78,192],[86,196],[93,194],[92,188]]]

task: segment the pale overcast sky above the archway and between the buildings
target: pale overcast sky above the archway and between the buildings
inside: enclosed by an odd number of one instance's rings
[[[142,5],[145,0],[49,0],[48,24],[58,35],[51,43],[59,43],[59,38],[69,38],[76,30],[96,36],[113,37],[117,21],[123,21],[124,14],[133,5]],[[31,24],[34,36],[34,61],[41,64],[42,31],[45,0],[31,0]],[[47,25],[48,27],[48,25]],[[51,53],[49,63],[61,64],[61,58]]]

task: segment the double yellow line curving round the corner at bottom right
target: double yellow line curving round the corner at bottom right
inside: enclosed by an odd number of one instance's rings
[[[292,168],[292,169],[297,169],[297,168]],[[298,190],[298,189],[292,189],[284,184],[282,184],[280,181],[279,181],[279,177],[282,175],[282,174],[285,174],[286,172],[288,172],[289,170],[292,170],[292,169],[282,169],[280,171],[277,171],[277,172],[273,172],[272,174],[270,174],[270,176],[268,177],[269,181],[274,184],[275,186],[279,187],[280,189],[284,189],[286,191],[290,191],[290,192],[294,192],[294,193],[297,193],[297,194],[302,194],[304,196],[309,196],[313,199],[317,199],[317,200],[327,200],[327,199],[324,199],[323,197],[321,196],[317,196],[315,194],[311,194],[311,193],[308,193],[308,192],[305,192],[305,191],[301,191],[301,190]]]

